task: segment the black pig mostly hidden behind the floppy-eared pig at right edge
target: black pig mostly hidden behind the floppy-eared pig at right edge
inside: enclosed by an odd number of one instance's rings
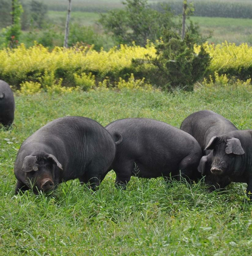
[[[205,151],[205,148],[213,136],[238,130],[235,125],[213,111],[201,110],[184,119],[180,129],[195,137],[201,146],[205,156],[202,156],[198,170],[202,175],[206,175],[205,182],[209,185],[209,189],[215,190],[227,186],[231,182],[228,176],[213,175],[210,171],[213,152],[212,150]]]

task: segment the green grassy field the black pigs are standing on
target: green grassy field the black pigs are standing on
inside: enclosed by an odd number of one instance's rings
[[[148,117],[179,127],[190,113],[211,109],[239,129],[251,128],[252,88],[198,85],[195,92],[90,91],[15,94],[12,129],[0,129],[1,255],[251,255],[252,205],[245,184],[209,194],[163,179],[132,178],[126,191],[109,173],[92,193],[78,180],[48,195],[13,194],[13,164],[22,141],[47,122],[87,116],[102,125]]]

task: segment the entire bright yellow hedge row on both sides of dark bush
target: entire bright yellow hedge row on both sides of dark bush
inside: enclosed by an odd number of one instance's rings
[[[252,47],[227,42],[206,44],[205,47],[212,57],[208,75],[217,72],[245,81],[252,78]],[[195,46],[196,53],[198,49]],[[121,45],[108,52],[97,52],[87,47],[55,47],[53,51],[49,51],[39,44],[27,49],[20,45],[16,49],[0,51],[0,79],[17,88],[25,81],[44,83],[46,87],[60,79],[62,85],[76,86],[81,83],[78,80],[89,81],[93,76],[96,84],[104,80],[115,83],[120,77],[128,79],[132,73],[137,79],[141,79],[146,77],[146,70],[153,67],[146,64],[146,69],[141,70],[132,65],[132,59],[145,59],[146,54],[155,56],[153,44],[146,48]]]

